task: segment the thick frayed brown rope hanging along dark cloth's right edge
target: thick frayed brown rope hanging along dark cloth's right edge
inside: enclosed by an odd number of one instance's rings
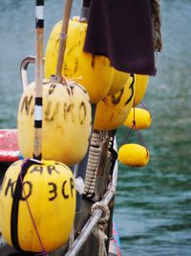
[[[154,49],[156,52],[160,52],[162,49],[162,37],[159,0],[150,0],[150,7],[153,23]]]

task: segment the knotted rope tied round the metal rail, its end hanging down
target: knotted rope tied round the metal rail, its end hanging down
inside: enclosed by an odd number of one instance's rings
[[[101,201],[97,201],[91,210],[91,214],[93,214],[97,209],[102,210],[102,216],[97,222],[95,228],[93,229],[93,235],[99,241],[99,256],[107,256],[107,250],[105,246],[105,241],[108,240],[108,237],[105,234],[105,229],[107,227],[107,221],[110,219],[110,210],[108,205]]]

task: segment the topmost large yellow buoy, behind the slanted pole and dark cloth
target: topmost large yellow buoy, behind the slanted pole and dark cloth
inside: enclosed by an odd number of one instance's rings
[[[53,27],[45,58],[45,77],[55,74],[61,22]],[[78,17],[70,20],[62,75],[79,81],[88,91],[91,102],[96,104],[110,90],[114,69],[106,57],[95,56],[83,51],[87,23],[79,22]],[[79,80],[79,78],[81,78]]]

